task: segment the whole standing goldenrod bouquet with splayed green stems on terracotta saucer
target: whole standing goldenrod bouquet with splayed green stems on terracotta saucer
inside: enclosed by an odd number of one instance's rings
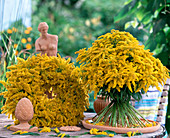
[[[76,53],[77,61],[83,63],[84,84],[94,91],[94,97],[99,93],[111,101],[98,113],[95,123],[109,121],[115,127],[146,127],[139,119],[142,115],[129,101],[131,97],[139,101],[149,86],[160,90],[158,84],[163,85],[169,77],[169,70],[161,61],[130,33],[117,30],[98,37],[92,47]]]

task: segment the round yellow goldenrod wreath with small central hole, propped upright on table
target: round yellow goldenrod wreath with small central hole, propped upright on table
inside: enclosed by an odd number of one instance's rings
[[[84,118],[89,106],[88,91],[81,82],[80,68],[58,57],[32,56],[27,60],[18,58],[18,63],[8,67],[7,91],[3,113],[15,119],[15,107],[21,98],[27,97],[33,104],[34,116],[29,122],[37,127],[77,125]],[[54,93],[52,99],[44,94]],[[18,120],[15,124],[19,123]]]

